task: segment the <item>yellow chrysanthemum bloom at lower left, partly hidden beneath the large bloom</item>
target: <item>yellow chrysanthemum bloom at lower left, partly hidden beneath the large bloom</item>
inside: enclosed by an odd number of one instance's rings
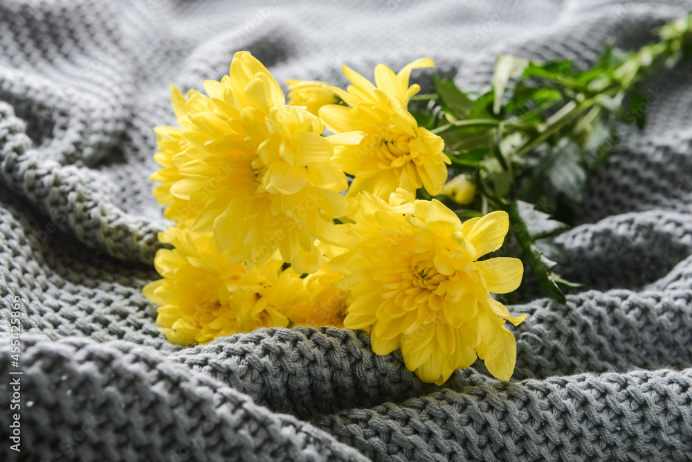
[[[286,327],[284,313],[310,301],[305,281],[282,271],[280,258],[248,268],[220,254],[211,233],[170,227],[159,239],[174,249],[158,251],[154,264],[163,279],[147,284],[144,294],[161,305],[156,322],[172,344]]]

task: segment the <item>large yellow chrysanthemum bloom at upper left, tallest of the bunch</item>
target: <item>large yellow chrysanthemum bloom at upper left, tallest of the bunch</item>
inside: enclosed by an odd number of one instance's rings
[[[154,193],[188,211],[193,231],[212,232],[232,263],[260,265],[280,250],[295,272],[315,272],[322,256],[314,238],[345,212],[340,191],[346,177],[331,160],[335,145],[358,143],[362,134],[325,138],[320,119],[300,107],[285,106],[271,73],[250,53],[235,54],[229,75],[204,82],[207,95],[191,90],[185,98],[172,88],[172,104],[181,125],[159,129],[174,149],[170,166],[181,179]],[[163,170],[163,169],[162,169]],[[156,178],[174,179],[173,172]],[[176,214],[176,210],[170,212]]]

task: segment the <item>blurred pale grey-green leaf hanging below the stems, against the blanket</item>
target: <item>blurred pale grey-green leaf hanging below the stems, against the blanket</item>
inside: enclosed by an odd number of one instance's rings
[[[548,180],[559,193],[581,200],[587,177],[579,146],[572,140],[562,139],[552,150],[553,162],[548,169]]]

